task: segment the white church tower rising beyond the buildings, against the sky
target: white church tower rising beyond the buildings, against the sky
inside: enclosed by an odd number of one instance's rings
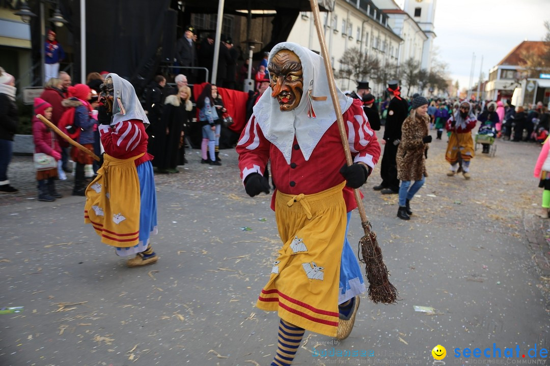
[[[414,19],[420,29],[426,33],[428,39],[424,42],[422,50],[421,68],[430,71],[432,63],[433,39],[436,33],[433,30],[433,20],[436,15],[437,0],[405,0],[403,10]]]

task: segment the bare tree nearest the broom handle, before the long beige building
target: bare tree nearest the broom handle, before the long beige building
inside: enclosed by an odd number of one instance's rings
[[[354,82],[366,80],[369,75],[376,75],[380,68],[377,58],[361,53],[356,47],[346,49],[338,61],[340,70],[336,72],[335,77]]]

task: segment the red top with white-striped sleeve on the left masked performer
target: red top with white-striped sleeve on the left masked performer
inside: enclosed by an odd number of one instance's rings
[[[142,123],[139,126],[132,120],[121,121],[114,126],[100,125],[101,143],[105,152],[113,157],[127,156],[143,139],[147,139],[142,126]]]

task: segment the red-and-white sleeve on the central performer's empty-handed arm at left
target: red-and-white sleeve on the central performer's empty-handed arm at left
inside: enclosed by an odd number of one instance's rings
[[[243,182],[252,173],[259,173],[263,176],[270,157],[270,147],[271,143],[263,136],[260,126],[252,116],[243,129],[237,144],[239,169]]]

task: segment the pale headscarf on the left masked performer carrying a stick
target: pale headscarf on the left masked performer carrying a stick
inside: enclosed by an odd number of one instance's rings
[[[113,79],[114,89],[111,126],[128,120],[140,120],[144,125],[149,125],[149,119],[147,119],[147,115],[139,102],[138,95],[136,95],[134,87],[130,82],[112,72],[105,79],[107,80],[109,77]]]

